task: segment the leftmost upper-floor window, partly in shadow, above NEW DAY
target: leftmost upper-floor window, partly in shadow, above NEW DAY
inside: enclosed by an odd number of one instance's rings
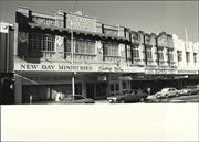
[[[29,34],[30,51],[54,51],[54,36],[46,34]]]

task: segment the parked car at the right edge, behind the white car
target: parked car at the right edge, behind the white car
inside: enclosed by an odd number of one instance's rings
[[[186,88],[182,88],[178,91],[180,95],[196,95],[199,94],[199,87],[187,86]]]

